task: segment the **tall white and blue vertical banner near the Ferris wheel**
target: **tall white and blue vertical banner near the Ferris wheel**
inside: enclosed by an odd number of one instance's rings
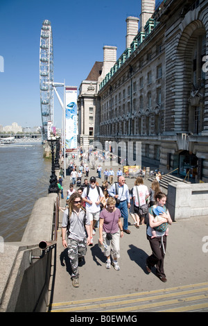
[[[77,148],[77,87],[66,86],[66,152]]]

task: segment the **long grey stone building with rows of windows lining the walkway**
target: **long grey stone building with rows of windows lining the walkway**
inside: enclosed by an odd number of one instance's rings
[[[94,139],[141,141],[148,166],[207,182],[208,1],[142,0],[139,23],[101,80]]]

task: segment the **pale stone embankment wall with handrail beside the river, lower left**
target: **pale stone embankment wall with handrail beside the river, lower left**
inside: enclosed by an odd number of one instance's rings
[[[20,242],[4,243],[0,254],[0,311],[46,311],[52,250],[42,259],[40,241],[51,241],[57,194],[35,202]]]

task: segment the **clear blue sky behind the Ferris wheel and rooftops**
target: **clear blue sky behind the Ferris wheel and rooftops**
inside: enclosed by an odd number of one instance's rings
[[[54,81],[80,86],[103,46],[125,50],[128,16],[139,17],[141,0],[0,0],[0,125],[41,126],[39,55],[42,22],[53,31]],[[0,67],[0,71],[2,68]],[[62,87],[58,87],[60,97]],[[56,95],[54,124],[61,127]]]

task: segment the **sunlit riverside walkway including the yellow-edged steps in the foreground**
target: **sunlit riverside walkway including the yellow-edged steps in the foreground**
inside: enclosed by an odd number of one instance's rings
[[[97,178],[96,170],[89,171],[89,178],[92,175]],[[102,185],[103,173],[102,179],[97,180]],[[125,178],[125,182],[131,189],[135,179]],[[70,177],[67,176],[63,181],[61,207],[65,205],[69,183]],[[144,179],[148,189],[150,183]],[[170,226],[164,260],[166,283],[155,276],[154,269],[153,273],[146,272],[146,258],[151,254],[146,226],[135,228],[130,215],[128,221],[131,234],[124,234],[120,240],[120,271],[115,271],[113,266],[110,270],[105,268],[105,257],[98,247],[96,229],[94,246],[87,247],[85,261],[79,268],[80,286],[74,288],[67,249],[62,246],[60,212],[48,311],[86,314],[96,311],[125,315],[137,311],[208,311],[208,246],[203,242],[203,238],[208,237],[208,216],[175,221]]]

